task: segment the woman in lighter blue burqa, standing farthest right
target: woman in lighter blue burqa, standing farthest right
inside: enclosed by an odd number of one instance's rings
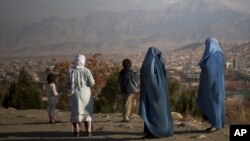
[[[205,51],[199,63],[201,68],[197,105],[203,116],[211,124],[208,132],[224,127],[225,87],[224,55],[219,42],[208,38]]]

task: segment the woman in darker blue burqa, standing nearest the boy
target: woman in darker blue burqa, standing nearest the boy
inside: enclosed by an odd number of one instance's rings
[[[139,114],[144,120],[144,138],[173,135],[167,74],[160,50],[155,47],[148,49],[140,75]]]

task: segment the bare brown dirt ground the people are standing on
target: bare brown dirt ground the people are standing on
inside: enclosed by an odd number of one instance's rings
[[[85,136],[81,127],[80,137],[73,137],[70,111],[56,111],[58,123],[49,124],[46,110],[16,110],[0,108],[0,140],[143,140],[143,121],[133,115],[130,122],[121,122],[121,113],[95,114],[92,137]],[[195,120],[174,121],[174,136],[156,141],[227,141],[229,126],[213,133],[205,133],[206,122]]]

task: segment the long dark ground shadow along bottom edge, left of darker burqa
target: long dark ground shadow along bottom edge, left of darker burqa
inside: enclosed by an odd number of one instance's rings
[[[131,137],[130,137],[131,135]],[[124,137],[121,137],[124,136]],[[113,132],[113,131],[94,131],[92,137],[87,137],[83,131],[80,137],[73,137],[71,132],[61,131],[35,131],[35,132],[11,132],[0,133],[0,140],[142,140],[141,132]]]

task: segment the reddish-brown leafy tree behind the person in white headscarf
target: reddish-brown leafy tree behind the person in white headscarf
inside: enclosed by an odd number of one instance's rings
[[[91,93],[94,97],[94,100],[99,100],[99,94],[105,87],[108,87],[107,81],[110,78],[110,75],[114,72],[117,72],[120,68],[116,64],[112,64],[108,61],[105,61],[102,58],[102,54],[93,54],[86,58],[85,66],[90,69],[94,79],[95,85],[91,87]],[[56,86],[61,94],[58,108],[60,109],[69,109],[70,108],[70,100],[69,100],[69,89],[67,85],[68,80],[68,71],[72,62],[59,62],[55,64],[55,68],[53,71],[57,72],[57,82]],[[96,102],[98,103],[98,102]]]

